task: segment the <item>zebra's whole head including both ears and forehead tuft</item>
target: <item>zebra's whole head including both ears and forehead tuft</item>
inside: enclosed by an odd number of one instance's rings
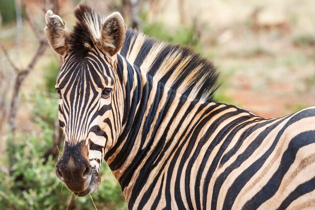
[[[70,191],[84,196],[97,190],[100,164],[120,133],[123,93],[116,54],[126,29],[119,13],[102,18],[81,5],[74,15],[77,22],[69,31],[48,11],[45,34],[64,61],[56,90],[65,141],[56,174]]]

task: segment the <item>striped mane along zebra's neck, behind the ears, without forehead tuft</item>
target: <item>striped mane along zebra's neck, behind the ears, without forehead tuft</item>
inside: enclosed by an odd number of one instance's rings
[[[166,86],[192,98],[214,101],[219,73],[211,61],[192,49],[127,29],[120,54]]]

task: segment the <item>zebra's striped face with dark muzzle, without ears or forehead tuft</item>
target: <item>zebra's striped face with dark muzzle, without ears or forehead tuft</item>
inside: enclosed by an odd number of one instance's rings
[[[65,143],[56,171],[60,180],[79,195],[97,189],[106,145],[115,142],[120,130],[120,107],[113,102],[121,95],[116,78],[110,59],[97,49],[81,59],[67,55],[57,77],[59,123]],[[65,174],[83,176],[66,180]],[[77,184],[80,181],[85,183]],[[82,193],[86,187],[89,191]]]

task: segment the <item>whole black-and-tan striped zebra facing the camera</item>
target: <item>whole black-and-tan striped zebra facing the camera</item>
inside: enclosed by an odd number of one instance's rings
[[[216,102],[219,73],[190,48],[126,29],[119,13],[48,11],[64,147],[56,175],[77,196],[103,159],[129,209],[315,208],[315,107],[266,119]]]

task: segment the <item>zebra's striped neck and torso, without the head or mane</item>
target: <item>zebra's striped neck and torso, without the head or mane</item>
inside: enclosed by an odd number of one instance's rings
[[[124,58],[119,61],[127,62]],[[301,170],[313,178],[311,164],[305,171],[294,167],[288,173],[283,170],[289,170],[291,161],[296,165],[315,161],[315,107],[279,119],[264,119],[235,106],[190,100],[154,84],[154,76],[150,77],[145,75],[141,81],[160,89],[137,95],[154,100],[150,106],[147,102],[144,107],[131,105],[133,120],[125,125],[130,128],[105,157],[129,209],[241,209],[243,205],[243,209],[256,209],[261,204],[261,209],[284,209],[293,201],[285,198],[296,193],[286,189],[287,185],[305,182],[304,177],[292,180],[284,175],[296,177],[294,173]],[[303,132],[305,135],[294,138]],[[300,142],[306,147],[295,160],[294,149],[302,146]],[[132,147],[122,149],[121,145]],[[292,156],[286,154],[288,151]],[[283,158],[291,164],[285,165]],[[287,179],[282,181],[283,177]],[[310,186],[315,183],[314,178],[307,181]],[[266,188],[257,187],[260,184]],[[305,188],[304,193],[310,189]],[[315,198],[315,191],[306,196]]]

